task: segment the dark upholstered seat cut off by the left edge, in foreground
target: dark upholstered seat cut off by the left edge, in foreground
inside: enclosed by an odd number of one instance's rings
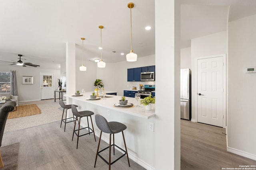
[[[16,106],[16,102],[9,101],[3,104],[3,106],[0,108],[0,147],[2,145],[4,127],[5,127],[8,114],[10,111],[14,110],[15,106]],[[2,161],[1,150],[0,150],[0,168],[3,168],[3,167],[4,167],[4,163]]]

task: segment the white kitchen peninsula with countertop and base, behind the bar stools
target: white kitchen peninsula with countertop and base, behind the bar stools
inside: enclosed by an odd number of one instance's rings
[[[92,121],[94,124],[95,135],[99,137],[100,130],[95,123],[95,115],[100,114],[108,121],[118,121],[127,126],[124,131],[126,146],[129,158],[148,170],[154,170],[155,167],[155,133],[149,130],[150,123],[155,123],[155,110],[146,111],[143,105],[140,107],[117,108],[115,103],[119,103],[121,96],[106,95],[107,98],[100,100],[90,99],[91,92],[85,92],[83,96],[67,96],[68,104],[78,105],[78,111],[90,110],[94,112]],[[126,97],[128,103],[135,106],[140,102],[135,98]],[[82,119],[81,124],[87,127],[87,119]],[[81,138],[82,139],[82,138]],[[102,133],[102,140],[108,143],[109,135]],[[122,134],[115,135],[115,144],[124,148]],[[151,148],[151,149],[150,149]]]

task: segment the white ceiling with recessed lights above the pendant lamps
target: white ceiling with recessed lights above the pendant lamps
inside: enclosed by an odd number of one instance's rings
[[[100,58],[98,26],[103,25],[103,61],[125,61],[131,49],[129,2],[1,0],[0,60],[18,61],[18,54],[21,54],[23,62],[38,64],[40,68],[59,69],[66,59],[66,42],[76,43],[76,58],[82,60],[80,38],[85,37],[86,65],[89,60]],[[153,55],[154,0],[132,2],[132,49],[138,57]],[[181,3],[181,48],[190,47],[192,38],[226,31],[227,20],[256,14],[255,0],[181,0]],[[145,30],[146,26],[152,28]]]

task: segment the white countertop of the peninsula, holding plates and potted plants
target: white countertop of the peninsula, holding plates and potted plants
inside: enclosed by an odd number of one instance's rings
[[[108,92],[108,91],[106,91]],[[155,116],[155,109],[152,109],[150,111],[145,110],[145,106],[139,105],[140,107],[136,107],[140,102],[135,99],[135,98],[130,98],[126,97],[128,100],[128,103],[132,103],[135,105],[135,107],[132,108],[117,108],[114,107],[115,103],[119,103],[119,100],[121,99],[121,96],[115,96],[115,95],[106,95],[106,96],[111,96],[112,98],[105,98],[105,99],[100,99],[100,100],[87,100],[90,99],[91,92],[85,92],[83,96],[68,96],[69,98],[72,98],[73,100],[80,100],[84,102],[88,102],[90,104],[94,104],[97,106],[101,107],[106,107],[108,109],[113,109],[120,111],[125,114],[133,115],[136,117],[142,117],[144,119],[149,119],[151,117]]]

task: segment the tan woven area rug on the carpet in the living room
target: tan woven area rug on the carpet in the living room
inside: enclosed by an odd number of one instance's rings
[[[38,114],[41,114],[41,110],[38,108],[36,104],[21,105],[21,106],[17,106],[17,109],[15,109],[15,111],[9,112],[7,119],[38,115]]]

